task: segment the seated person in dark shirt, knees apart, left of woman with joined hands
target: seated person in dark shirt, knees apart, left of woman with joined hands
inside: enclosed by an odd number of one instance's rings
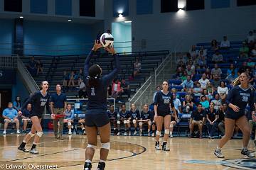
[[[196,111],[193,111],[191,114],[191,119],[189,121],[189,129],[190,135],[189,137],[193,137],[193,128],[195,125],[198,125],[198,129],[200,132],[200,139],[203,137],[203,123],[205,122],[206,114],[203,111],[202,104],[199,103]]]

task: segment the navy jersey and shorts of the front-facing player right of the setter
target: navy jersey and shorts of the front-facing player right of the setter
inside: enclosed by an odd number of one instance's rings
[[[171,108],[174,108],[174,100],[172,98],[171,92],[168,92],[168,94],[164,94],[163,91],[156,93],[154,105],[157,106],[157,113],[170,114],[170,104]]]

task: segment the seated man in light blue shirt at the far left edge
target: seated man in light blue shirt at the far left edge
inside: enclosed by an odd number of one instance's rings
[[[8,108],[4,109],[2,116],[4,118],[3,135],[6,135],[6,129],[9,123],[16,123],[17,134],[20,134],[18,112],[16,111],[16,109],[13,108],[13,103],[8,103]]]

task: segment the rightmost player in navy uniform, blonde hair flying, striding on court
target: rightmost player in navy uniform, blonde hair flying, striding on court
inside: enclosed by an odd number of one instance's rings
[[[218,142],[218,147],[215,149],[215,156],[223,158],[221,154],[221,148],[225,145],[230,137],[233,135],[235,125],[242,131],[242,151],[241,154],[247,157],[255,157],[253,152],[247,149],[248,142],[250,140],[250,126],[245,117],[245,107],[247,104],[250,106],[252,115],[255,115],[254,106],[254,89],[249,84],[249,75],[246,73],[240,74],[239,79],[234,81],[233,89],[228,93],[226,102],[228,103],[228,110],[225,113],[225,135]],[[240,85],[238,85],[240,82]]]

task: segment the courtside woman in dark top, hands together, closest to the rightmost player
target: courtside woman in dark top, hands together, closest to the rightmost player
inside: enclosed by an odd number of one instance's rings
[[[216,128],[218,126],[218,111],[214,109],[214,103],[210,102],[210,108],[206,111],[206,126],[209,133],[209,138],[213,139]]]

